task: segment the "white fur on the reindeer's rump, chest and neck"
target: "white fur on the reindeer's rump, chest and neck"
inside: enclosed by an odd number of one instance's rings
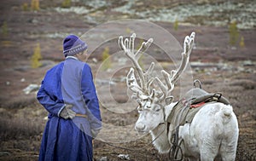
[[[175,104],[165,106],[166,116],[170,114]],[[174,127],[170,125],[167,136],[167,127],[159,135],[162,126],[161,124],[150,130],[150,134],[153,140],[159,136],[154,141],[154,147],[160,153],[166,153],[172,146],[170,140]],[[235,160],[238,133],[238,124],[232,106],[215,102],[203,106],[196,113],[191,124],[184,124],[179,128],[179,140],[183,139],[183,155],[190,160],[195,158],[213,160],[218,154],[223,160]]]

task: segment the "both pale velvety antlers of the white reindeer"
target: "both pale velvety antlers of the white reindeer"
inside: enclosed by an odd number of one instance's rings
[[[125,55],[127,55],[133,65],[135,66],[135,70],[138,73],[140,85],[137,83],[137,79],[135,78],[134,74],[134,68],[131,67],[130,72],[127,74],[126,83],[129,89],[134,92],[132,96],[137,98],[138,102],[140,100],[145,99],[151,99],[154,101],[166,101],[166,104],[171,103],[172,101],[172,95],[171,92],[174,88],[174,84],[177,81],[177,78],[180,77],[180,75],[184,72],[186,66],[189,63],[189,56],[191,53],[191,50],[193,49],[194,40],[195,40],[195,32],[192,32],[190,37],[187,36],[184,39],[183,43],[183,53],[182,53],[182,62],[177,70],[172,70],[170,73],[166,72],[165,70],[162,70],[161,73],[165,79],[166,83],[163,83],[160,78],[150,78],[150,74],[152,73],[154,69],[154,62],[151,63],[151,65],[148,68],[147,72],[143,72],[142,67],[138,63],[138,59],[141,55],[148,49],[150,44],[153,42],[153,39],[148,39],[147,42],[143,42],[141,47],[137,50],[135,53],[134,50],[134,41],[135,41],[136,34],[133,33],[129,38],[125,38],[125,41],[123,37],[119,37],[119,47],[125,51]],[[150,90],[150,85],[153,83],[154,79],[157,80],[157,83],[160,86],[160,93],[155,95],[155,89]]]

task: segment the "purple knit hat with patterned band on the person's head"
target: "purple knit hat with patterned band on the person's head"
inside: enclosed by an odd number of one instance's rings
[[[65,57],[76,55],[87,49],[87,44],[75,35],[68,35],[63,40],[63,54]]]

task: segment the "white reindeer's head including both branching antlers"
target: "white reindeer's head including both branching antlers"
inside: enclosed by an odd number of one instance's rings
[[[132,98],[137,100],[139,106],[137,110],[139,112],[139,118],[137,120],[135,129],[139,132],[148,132],[155,129],[159,124],[165,122],[164,106],[168,106],[172,103],[173,96],[171,92],[174,88],[174,84],[177,78],[185,70],[189,63],[189,55],[193,48],[195,32],[192,32],[190,37],[187,36],[183,43],[182,62],[177,70],[172,70],[170,73],[162,70],[161,73],[164,77],[165,83],[160,78],[152,77],[151,73],[154,69],[154,62],[151,63],[146,72],[138,63],[138,59],[148,49],[153,39],[148,39],[147,42],[143,42],[141,47],[135,51],[134,41],[136,34],[133,33],[130,38],[119,37],[119,47],[125,51],[125,55],[132,61],[134,67],[131,67],[130,72],[127,74],[126,84],[133,92]],[[137,72],[137,78],[135,75]],[[160,90],[156,91],[151,87],[151,84],[157,82]]]

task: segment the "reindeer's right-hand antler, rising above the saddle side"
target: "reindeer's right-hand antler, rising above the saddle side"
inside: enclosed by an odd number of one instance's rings
[[[183,43],[182,62],[177,70],[172,70],[170,74],[165,70],[161,71],[162,75],[165,78],[166,84],[160,81],[160,78],[155,77],[155,79],[157,80],[157,83],[160,86],[160,89],[162,90],[162,95],[158,97],[158,101],[163,101],[164,99],[168,99],[172,97],[170,94],[174,88],[174,84],[176,83],[177,78],[179,78],[180,75],[184,72],[185,68],[189,63],[189,56],[190,56],[191,50],[193,49],[194,40],[195,40],[195,32],[192,32],[190,37],[189,36],[185,37],[184,43]]]

